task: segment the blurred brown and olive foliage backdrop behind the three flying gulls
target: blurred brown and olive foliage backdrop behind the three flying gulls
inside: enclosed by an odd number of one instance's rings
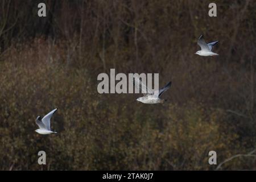
[[[39,18],[38,3],[47,5]],[[208,170],[255,146],[256,2],[2,0],[0,169]],[[197,38],[220,40],[200,57]],[[163,105],[98,94],[97,75],[159,73]],[[59,108],[56,135],[34,130]],[[38,151],[47,154],[39,166]],[[256,169],[241,156],[220,169]]]

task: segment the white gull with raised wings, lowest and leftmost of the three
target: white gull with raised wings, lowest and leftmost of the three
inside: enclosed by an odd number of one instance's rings
[[[52,133],[57,133],[54,131],[51,131],[51,117],[55,113],[57,109],[52,110],[47,115],[41,119],[40,115],[36,118],[36,124],[39,126],[39,129],[35,130],[37,133],[42,135],[48,135]]]

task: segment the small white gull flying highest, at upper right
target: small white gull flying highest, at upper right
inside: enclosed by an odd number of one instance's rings
[[[197,44],[201,47],[201,51],[197,51],[195,54],[200,56],[217,56],[217,53],[212,52],[213,46],[216,45],[218,41],[205,43],[203,35],[200,35],[197,40]]]

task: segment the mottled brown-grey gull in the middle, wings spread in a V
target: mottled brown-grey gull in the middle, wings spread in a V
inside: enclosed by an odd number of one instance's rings
[[[172,82],[170,81],[162,89],[153,91],[147,88],[147,86],[143,84],[139,77],[134,76],[134,85],[137,86],[138,89],[141,88],[142,93],[146,93],[144,94],[143,97],[137,98],[137,101],[142,102],[144,104],[162,103],[166,100],[161,99],[160,96],[162,96],[162,94],[171,87],[171,84]]]

